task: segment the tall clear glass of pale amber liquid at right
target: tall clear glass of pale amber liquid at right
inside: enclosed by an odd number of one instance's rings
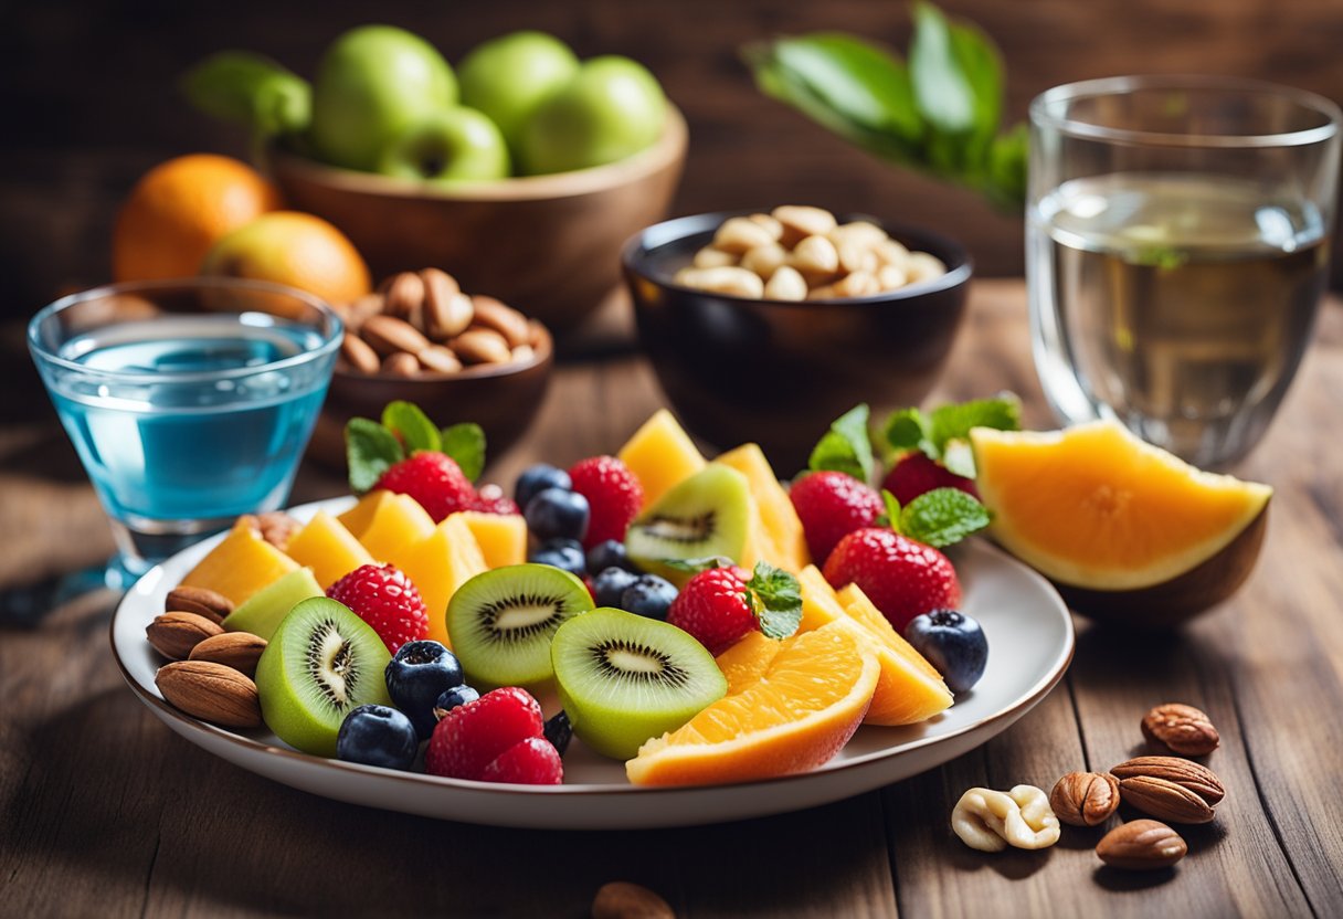
[[[1319,95],[1215,77],[1031,102],[1031,341],[1065,423],[1117,418],[1203,468],[1258,442],[1324,293],[1339,124]]]

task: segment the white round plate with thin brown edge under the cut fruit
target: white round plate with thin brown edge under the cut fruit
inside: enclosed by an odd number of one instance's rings
[[[340,511],[349,498],[297,508]],[[988,637],[988,666],[974,692],[943,715],[904,728],[864,727],[818,770],[802,775],[678,789],[639,789],[619,762],[577,742],[564,756],[565,785],[490,785],[359,766],[297,752],[267,731],[236,732],[168,705],[154,687],[161,664],[145,626],[163,611],[168,590],[222,537],[154,567],[126,594],[111,618],[111,649],[126,683],[168,727],[246,770],[313,794],[371,807],[496,826],[537,829],[650,829],[716,824],[802,810],[862,794],[940,766],[1007,730],[1064,676],[1073,656],[1068,609],[1039,575],[980,540],[954,550],[963,609]]]

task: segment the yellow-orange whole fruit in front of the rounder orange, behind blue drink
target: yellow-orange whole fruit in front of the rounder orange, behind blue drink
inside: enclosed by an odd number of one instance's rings
[[[215,243],[201,274],[273,281],[329,304],[348,304],[369,290],[368,266],[355,243],[320,216],[273,211]]]

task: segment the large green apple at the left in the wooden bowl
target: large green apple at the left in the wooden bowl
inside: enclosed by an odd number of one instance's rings
[[[395,26],[360,26],[337,38],[313,81],[317,156],[372,171],[387,142],[457,103],[457,78],[438,50]]]

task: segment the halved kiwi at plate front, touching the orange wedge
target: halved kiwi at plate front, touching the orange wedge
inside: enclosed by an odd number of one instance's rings
[[[631,759],[728,692],[713,656],[688,633],[608,606],[560,626],[551,660],[573,734],[615,759]]]

